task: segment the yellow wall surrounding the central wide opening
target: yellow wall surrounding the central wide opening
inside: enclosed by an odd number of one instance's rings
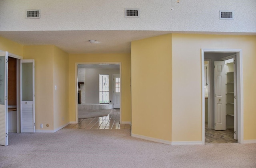
[[[131,58],[130,54],[70,54],[69,55],[69,117],[70,121],[76,121],[75,92],[75,64],[76,63],[101,63],[120,62],[121,66],[121,87],[122,87],[122,122],[131,121]]]

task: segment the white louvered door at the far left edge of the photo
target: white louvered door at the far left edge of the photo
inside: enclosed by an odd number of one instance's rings
[[[0,52],[0,145],[8,145],[8,52]]]

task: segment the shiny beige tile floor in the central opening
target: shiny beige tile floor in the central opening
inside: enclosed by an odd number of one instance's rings
[[[130,124],[120,124],[119,109],[112,109],[104,117],[78,119],[78,124],[69,124],[64,129],[131,129]]]

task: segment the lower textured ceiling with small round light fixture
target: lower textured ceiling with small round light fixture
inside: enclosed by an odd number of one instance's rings
[[[67,53],[130,53],[131,41],[170,31],[0,31],[22,45],[56,45]],[[88,40],[94,39],[96,43]]]

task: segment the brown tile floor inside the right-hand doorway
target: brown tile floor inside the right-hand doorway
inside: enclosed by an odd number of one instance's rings
[[[205,143],[237,143],[234,139],[234,129],[226,129],[224,131],[216,131],[208,129],[205,124]]]

